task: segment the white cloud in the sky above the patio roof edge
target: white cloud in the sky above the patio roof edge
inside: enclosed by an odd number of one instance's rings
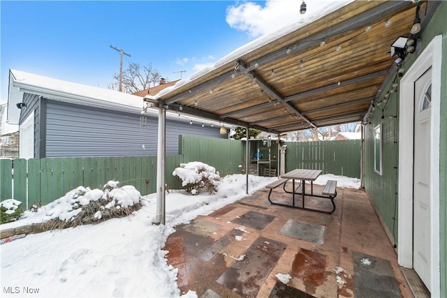
[[[247,32],[252,37],[263,36],[268,33],[278,31],[296,22],[306,22],[321,16],[332,6],[339,6],[352,0],[317,0],[307,1],[307,11],[305,15],[300,15],[302,1],[297,0],[267,0],[265,5],[244,1],[228,6],[226,10],[226,22],[231,28]]]

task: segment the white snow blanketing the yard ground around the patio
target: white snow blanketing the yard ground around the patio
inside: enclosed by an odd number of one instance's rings
[[[337,179],[340,187],[360,186],[346,177],[327,176],[319,179]],[[249,176],[249,191],[261,189],[274,179]],[[153,193],[143,197],[144,206],[131,216],[29,234],[3,244],[1,297],[197,297],[196,292],[180,292],[177,269],[167,264],[168,252],[162,248],[168,235],[175,232],[175,225],[243,198],[245,181],[243,174],[223,177],[213,195],[168,193],[166,225],[152,225],[156,215]],[[316,184],[324,184],[321,181]],[[57,210],[47,211],[56,216]],[[42,221],[41,217],[34,219]],[[0,225],[0,230],[23,225],[22,221]],[[236,259],[240,258],[243,256]]]

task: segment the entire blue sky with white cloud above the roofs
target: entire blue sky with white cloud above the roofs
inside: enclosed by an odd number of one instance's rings
[[[308,16],[328,1],[307,0]],[[332,2],[332,1],[331,1]],[[302,22],[302,1],[0,1],[1,103],[10,68],[107,88],[129,62],[187,78],[251,40]],[[179,73],[179,71],[185,71]]]

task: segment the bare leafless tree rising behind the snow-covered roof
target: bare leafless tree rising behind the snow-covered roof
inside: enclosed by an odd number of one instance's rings
[[[141,66],[131,62],[129,68],[123,71],[122,88],[125,93],[135,93],[150,87],[154,87],[159,82],[161,75],[158,70],[152,68],[152,64]],[[116,90],[119,84],[119,73],[113,75],[115,82],[108,85],[109,89]]]

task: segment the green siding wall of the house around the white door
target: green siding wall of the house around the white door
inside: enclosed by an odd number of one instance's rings
[[[442,65],[441,65],[441,119],[440,119],[440,146],[439,146],[439,224],[440,224],[440,281],[441,297],[447,297],[447,2],[441,1],[439,8],[430,20],[425,30],[421,33],[422,50],[427,47],[432,38],[437,35],[443,36],[442,45]],[[408,69],[416,60],[418,54],[412,54],[405,61],[405,68]],[[389,86],[386,88],[386,91]],[[396,165],[397,150],[393,148],[391,142],[398,139],[398,130],[396,126],[397,119],[388,119],[387,115],[393,114],[393,109],[397,107],[396,94],[393,94],[393,102],[388,103],[386,108],[386,117],[384,124],[384,170],[383,176],[374,172],[374,151],[372,149],[372,128],[374,124],[381,121],[381,113],[374,111],[372,125],[367,125],[365,129],[365,189],[369,197],[374,202],[379,215],[383,218],[386,228],[393,232],[395,228],[395,237],[397,237],[397,218],[393,221],[395,207],[395,190],[393,185],[397,180],[393,178],[391,166]],[[390,109],[390,110],[388,110]],[[388,135],[391,134],[391,135]],[[388,144],[387,144],[388,143]],[[404,146],[404,144],[401,144]],[[390,151],[390,152],[388,152]],[[393,153],[394,152],[394,153]],[[390,163],[390,165],[387,165]]]

